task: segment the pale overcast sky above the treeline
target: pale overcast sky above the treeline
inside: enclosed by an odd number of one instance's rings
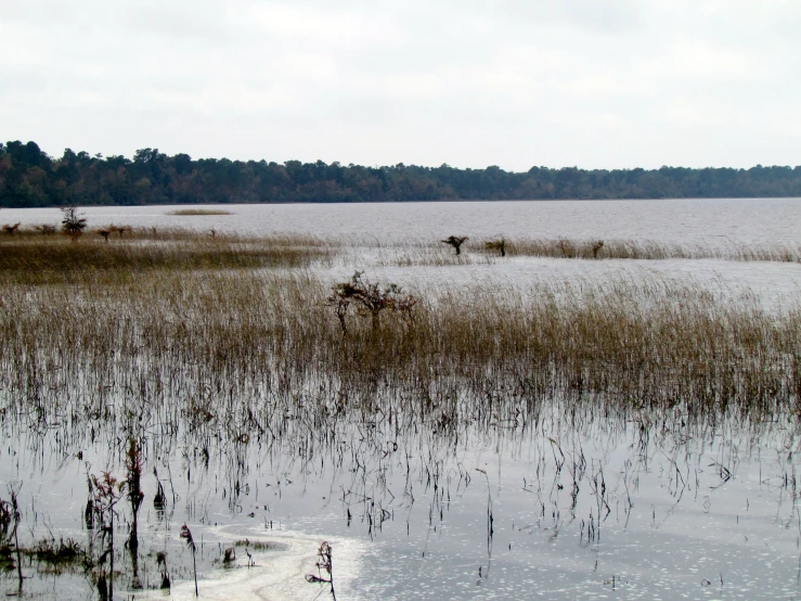
[[[2,0],[0,141],[483,168],[801,165],[798,0]]]

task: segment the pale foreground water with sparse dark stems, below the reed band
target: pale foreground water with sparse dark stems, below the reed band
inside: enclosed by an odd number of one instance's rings
[[[798,594],[798,436],[790,421],[694,422],[681,406],[670,414],[616,415],[585,406],[565,415],[555,404],[529,423],[413,426],[361,414],[313,432],[301,413],[282,418],[275,438],[237,442],[184,425],[143,432],[145,589],[159,586],[156,555],[164,552],[171,597],[194,594],[191,555],[178,536],[186,522],[207,599],[315,598],[320,585],[303,577],[314,573],[324,539],[343,599],[599,599],[612,589],[631,599]],[[23,486],[21,535],[87,540],[86,474],[121,473],[117,435],[95,432],[92,443],[91,432],[73,432],[67,439],[54,424],[36,434],[17,430],[15,445],[12,422],[7,417],[2,473]],[[153,504],[153,468],[164,511]],[[130,511],[120,507],[119,514],[115,590],[127,598],[134,592],[122,550]],[[236,559],[225,566],[231,546]],[[25,590],[91,597],[92,577],[81,570],[56,578],[24,559]],[[16,589],[13,571],[3,580]]]

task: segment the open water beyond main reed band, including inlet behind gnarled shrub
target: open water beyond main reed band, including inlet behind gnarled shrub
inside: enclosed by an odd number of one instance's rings
[[[801,265],[731,260],[572,261],[515,257],[474,263],[469,268],[386,269],[370,245],[430,244],[451,233],[474,240],[500,235],[635,240],[688,247],[766,247],[801,242],[801,199],[702,199],[670,201],[539,201],[470,203],[367,203],[299,205],[204,205],[231,215],[175,216],[186,206],[87,207],[90,227],[109,223],[144,228],[181,227],[250,234],[301,233],[357,244],[354,256],[331,270],[332,278],[369,269],[375,278],[406,286],[424,282],[461,284],[503,277],[513,285],[538,280],[667,277],[698,280],[701,285],[750,290],[768,306],[781,306],[801,291]],[[57,223],[56,208],[3,209],[3,223]],[[357,254],[358,253],[358,254]],[[384,255],[388,253],[385,251]],[[389,253],[391,254],[391,253]]]

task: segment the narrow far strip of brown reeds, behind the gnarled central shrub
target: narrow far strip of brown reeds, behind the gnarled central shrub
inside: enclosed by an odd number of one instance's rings
[[[42,232],[50,233],[42,233]],[[140,269],[193,270],[243,268],[332,267],[458,267],[498,265],[514,257],[566,259],[698,259],[738,261],[801,260],[801,246],[667,244],[654,241],[600,241],[569,239],[467,240],[456,255],[435,241],[405,243],[357,236],[334,240],[306,234],[241,235],[185,228],[132,228],[108,225],[70,236],[51,226],[22,228],[0,235],[0,273],[16,281],[43,283],[73,278],[81,270],[114,269],[133,273]]]

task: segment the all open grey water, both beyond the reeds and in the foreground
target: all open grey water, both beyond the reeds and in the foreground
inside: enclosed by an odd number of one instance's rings
[[[211,227],[247,233],[298,232],[389,243],[475,238],[643,239],[727,245],[797,243],[799,200],[414,203],[403,205],[227,205],[230,216],[173,217],[173,207],[91,207],[90,225]],[[56,209],[3,209],[3,222],[56,222]],[[537,282],[674,279],[737,302],[745,292],[768,307],[798,299],[801,266],[720,259],[581,261],[513,258],[442,267],[387,265],[360,246],[316,274],[335,281],[354,268],[421,290],[477,280]],[[89,369],[89,368],[87,368]],[[3,398],[0,391],[0,398]],[[90,392],[80,393],[78,396]],[[301,399],[313,391],[297,391]],[[274,401],[248,399],[257,405]],[[9,401],[4,399],[3,405]],[[188,399],[175,399],[183,405]],[[9,404],[11,405],[11,404]],[[469,404],[466,405],[468,407]],[[76,407],[79,404],[76,402]],[[294,406],[293,406],[294,407]],[[79,411],[79,409],[77,409]],[[315,599],[305,581],[328,540],[339,599],[798,599],[801,597],[799,438],[792,422],[742,423],[738,415],[684,425],[668,415],[565,415],[558,402],[527,426],[466,421],[455,430],[405,427],[386,415],[306,425],[302,408],[275,418],[282,434],[243,438],[223,429],[165,433],[145,411],[140,577],[158,585],[156,553],[167,552],[171,598],[194,596],[186,523],[198,544],[201,598]],[[86,540],[87,474],[122,473],[118,431],[89,431],[65,414],[44,431],[3,411],[0,497],[22,483],[21,535]],[[644,434],[647,432],[647,434]],[[116,447],[115,447],[116,445]],[[168,497],[153,503],[157,469]],[[128,514],[120,512],[118,565]],[[491,516],[491,521],[490,521]],[[280,544],[236,548],[237,540]],[[81,575],[55,576],[24,563],[25,590],[39,598],[92,599]],[[132,590],[129,572],[115,597]],[[16,573],[0,586],[16,590]]]

